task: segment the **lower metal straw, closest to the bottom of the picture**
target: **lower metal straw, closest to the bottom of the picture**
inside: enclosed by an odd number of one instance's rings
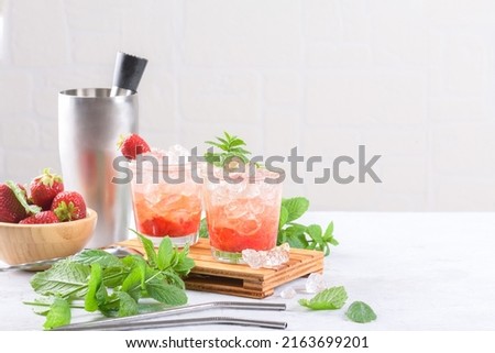
[[[103,323],[103,322],[101,322]],[[174,319],[174,320],[157,320],[157,321],[136,321],[127,323],[113,323],[105,324],[102,327],[86,327],[86,328],[58,328],[61,331],[133,331],[133,330],[146,330],[146,329],[163,329],[184,326],[199,326],[199,324],[239,324],[267,329],[284,330],[287,328],[287,322],[282,321],[265,321],[265,320],[251,320],[230,317],[207,317],[207,318],[189,318],[189,319]]]

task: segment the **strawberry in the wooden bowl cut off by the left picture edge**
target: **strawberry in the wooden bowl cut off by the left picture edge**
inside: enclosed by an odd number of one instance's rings
[[[19,223],[38,211],[38,207],[28,205],[23,186],[12,181],[0,184],[0,222]]]

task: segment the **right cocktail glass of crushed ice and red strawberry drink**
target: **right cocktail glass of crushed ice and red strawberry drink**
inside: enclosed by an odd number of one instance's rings
[[[221,170],[212,174],[217,179],[206,177],[204,187],[211,252],[218,261],[243,263],[243,250],[276,246],[280,175],[257,168],[252,176],[244,173],[226,178]]]

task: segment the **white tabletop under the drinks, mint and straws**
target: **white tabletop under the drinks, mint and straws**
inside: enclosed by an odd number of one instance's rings
[[[296,298],[283,299],[287,286],[263,299],[287,304],[287,311],[210,310],[184,317],[233,316],[287,321],[287,330],[495,330],[495,213],[314,212],[304,223],[336,223],[340,245],[324,261],[329,286],[343,285],[348,304],[337,311],[309,311]],[[40,330],[44,318],[22,304],[35,297],[32,274],[0,273],[0,330]],[[188,291],[189,302],[250,300]],[[370,304],[378,319],[359,324],[344,317],[354,300]],[[94,319],[78,310],[73,322]],[[256,330],[234,326],[176,330]],[[172,330],[172,329],[167,329]],[[262,329],[260,329],[262,330]]]

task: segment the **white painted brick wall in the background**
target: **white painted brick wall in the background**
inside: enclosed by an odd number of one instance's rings
[[[57,92],[109,86],[121,49],[150,59],[140,126],[154,145],[228,130],[256,154],[298,146],[330,166],[364,144],[382,185],[301,173],[286,195],[495,211],[491,0],[0,0],[0,180],[59,168]]]

